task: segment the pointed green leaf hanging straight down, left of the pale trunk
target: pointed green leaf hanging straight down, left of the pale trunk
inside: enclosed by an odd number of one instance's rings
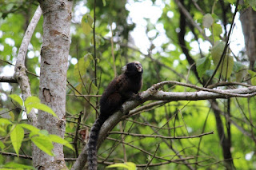
[[[22,146],[22,140],[24,138],[24,129],[20,125],[13,125],[12,131],[10,132],[10,140],[14,146],[14,150],[18,155],[18,151]]]

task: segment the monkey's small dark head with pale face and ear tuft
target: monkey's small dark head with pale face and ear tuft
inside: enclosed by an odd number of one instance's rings
[[[122,67],[122,72],[129,75],[142,75],[142,64],[139,61],[133,61]]]

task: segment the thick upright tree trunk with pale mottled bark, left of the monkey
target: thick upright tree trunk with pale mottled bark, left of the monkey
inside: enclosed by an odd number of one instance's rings
[[[64,137],[66,129],[66,71],[70,50],[72,1],[39,1],[43,14],[39,98],[58,118],[38,112],[38,128]],[[40,169],[67,169],[63,145],[54,144],[54,156],[37,148],[33,164]]]

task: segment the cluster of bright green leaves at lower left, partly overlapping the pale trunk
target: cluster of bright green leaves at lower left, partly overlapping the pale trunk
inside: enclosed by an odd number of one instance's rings
[[[23,101],[21,97],[15,94],[11,94],[10,97],[17,101],[19,105],[23,106]],[[45,112],[52,114],[54,117],[57,117],[52,109],[50,109],[47,105],[43,105],[40,103],[38,97],[28,97],[24,102],[25,108],[27,112],[30,112],[32,108],[42,109]],[[59,136],[49,135],[46,130],[40,130],[33,125],[22,124],[18,122],[11,122],[8,119],[0,118],[0,129],[3,134],[7,134],[5,137],[7,139],[10,136],[11,144],[14,147],[14,151],[19,155],[19,150],[22,147],[22,142],[25,136],[25,129],[30,131],[29,140],[31,140],[38,148],[40,148],[43,152],[46,152],[50,156],[54,156],[52,149],[54,148],[53,142],[63,144],[68,148],[74,149],[70,143]],[[10,132],[8,132],[8,126],[11,125]],[[6,142],[0,143],[0,148],[5,150]]]

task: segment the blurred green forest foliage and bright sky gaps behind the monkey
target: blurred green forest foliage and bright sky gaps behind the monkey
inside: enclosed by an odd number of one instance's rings
[[[178,2],[182,3],[203,32],[194,27],[190,18],[182,14],[178,8]],[[136,8],[138,16],[131,15],[131,10],[136,7],[136,4],[139,6]],[[142,10],[148,6],[147,4],[155,8]],[[94,123],[96,117],[96,111],[91,106],[94,105],[98,109],[99,101],[98,97],[90,95],[102,94],[106,85],[114,78],[114,65],[117,73],[120,74],[122,66],[127,62],[141,61],[144,69],[142,90],[166,80],[187,82],[198,86],[206,85],[206,81],[216,68],[211,49],[217,41],[226,42],[236,7],[234,4],[235,1],[232,0],[98,0],[96,4],[94,1],[74,1],[66,89],[66,139],[74,144],[77,152],[65,148],[66,158],[76,157],[84,146],[88,135],[87,129]],[[34,1],[0,0],[1,75],[14,73],[19,45],[37,6],[38,3]],[[250,6],[255,8],[255,4],[251,1],[246,1],[239,6],[239,14]],[[159,17],[154,16],[157,16],[158,12],[154,9],[160,11]],[[210,14],[209,18],[204,18],[206,14]],[[142,20],[136,22],[136,17]],[[209,23],[210,20],[213,20],[216,25]],[[236,18],[234,23],[238,27],[239,18]],[[41,18],[34,31],[26,58],[26,68],[30,72],[27,75],[30,77],[31,91],[34,96],[38,96],[39,77],[35,75],[40,74],[42,24]],[[235,29],[239,30],[236,26]],[[139,33],[139,29],[144,32]],[[206,34],[208,40],[202,33]],[[227,52],[227,56],[231,56],[232,61],[235,62],[230,70],[230,76],[226,77],[226,73],[222,75],[219,71],[210,84],[218,81],[239,81],[250,84],[250,80],[254,78],[254,68],[249,68],[246,47],[244,42],[241,42],[243,38],[241,26],[238,33],[240,34],[231,34],[233,38],[239,38],[230,42],[230,50]],[[94,51],[94,39],[96,51]],[[251,73],[248,72],[249,69]],[[244,72],[238,79],[238,73],[241,71]],[[230,88],[234,88],[234,85],[222,87],[222,89]],[[165,86],[163,90],[194,91],[194,89],[175,85]],[[10,93],[20,94],[18,85],[1,83],[1,117],[8,117],[15,121],[21,112],[7,97]],[[151,102],[148,101],[143,105]],[[161,136],[193,136],[214,131],[212,135],[169,140],[110,134],[98,151],[99,160],[107,158],[107,162],[130,161],[138,167],[145,167],[145,164],[152,159],[152,155],[149,156],[148,152],[154,154],[157,144],[160,144],[156,156],[161,159],[154,158],[151,162],[154,166],[150,169],[225,169],[229,167],[226,164],[230,164],[229,161],[232,159],[237,169],[255,168],[256,137],[253,126],[256,121],[255,98],[219,99],[216,103],[220,110],[220,119],[216,117],[210,101],[172,101],[146,109],[122,121],[114,128],[115,132]],[[79,127],[78,117],[81,118]],[[220,125],[225,135],[222,137],[218,135]],[[120,142],[122,138],[126,143],[125,148]],[[230,150],[232,158],[228,161],[223,156],[223,138],[230,140],[230,143],[228,142],[230,145],[226,147]],[[21,154],[31,155],[28,143],[29,141],[23,142]],[[10,147],[5,152],[14,152],[14,149]],[[31,164],[30,160],[0,155],[0,164],[10,160]],[[169,161],[173,162],[169,163]],[[66,164],[71,167],[72,161],[66,161]],[[100,169],[103,167],[105,164],[99,164]]]

